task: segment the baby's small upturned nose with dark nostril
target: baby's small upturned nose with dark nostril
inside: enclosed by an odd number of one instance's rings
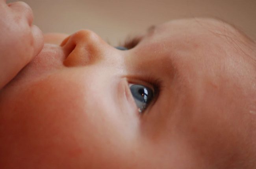
[[[64,64],[69,67],[94,64],[104,56],[103,49],[106,45],[108,44],[93,31],[78,31],[61,44],[66,55]]]

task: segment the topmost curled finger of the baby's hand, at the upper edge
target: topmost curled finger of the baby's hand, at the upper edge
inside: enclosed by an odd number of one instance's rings
[[[15,12],[19,13],[19,15],[24,15],[28,20],[28,24],[31,26],[33,22],[33,11],[31,7],[25,2],[13,2],[8,4],[8,6]]]

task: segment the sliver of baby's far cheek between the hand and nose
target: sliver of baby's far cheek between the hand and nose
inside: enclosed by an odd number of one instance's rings
[[[69,35],[64,33],[46,33],[44,35],[44,43],[60,45],[61,42],[68,36]]]

